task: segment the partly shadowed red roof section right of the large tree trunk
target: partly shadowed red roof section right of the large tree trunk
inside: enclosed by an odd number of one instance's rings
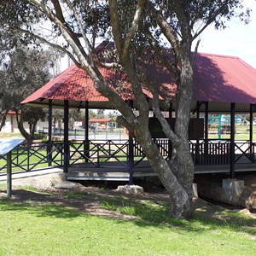
[[[197,54],[193,99],[256,103],[256,70],[238,57]]]

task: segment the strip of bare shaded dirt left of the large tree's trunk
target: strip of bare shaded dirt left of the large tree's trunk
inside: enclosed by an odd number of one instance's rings
[[[2,193],[1,193],[2,192]],[[85,195],[83,199],[66,198],[66,192],[83,192]],[[52,203],[55,205],[63,205],[73,207],[81,212],[88,212],[90,214],[110,218],[123,218],[123,219],[137,219],[137,217],[124,215],[118,212],[109,211],[100,207],[101,197],[125,197],[136,198],[142,200],[155,200],[155,201],[168,201],[168,195],[162,193],[143,193],[143,195],[124,195],[114,189],[98,189],[96,187],[84,187],[80,185],[76,189],[47,189],[43,191],[30,191],[26,189],[13,189],[11,201],[18,203],[29,202],[32,205],[40,205],[45,203]],[[6,194],[0,190],[0,199],[5,197]]]

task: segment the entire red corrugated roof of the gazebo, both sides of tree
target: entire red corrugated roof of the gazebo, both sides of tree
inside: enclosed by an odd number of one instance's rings
[[[238,103],[238,111],[248,109],[250,103],[256,104],[256,70],[245,61],[233,56],[197,53],[193,65],[192,110],[196,108],[196,101],[209,102],[210,110],[219,112],[229,110],[230,102]],[[131,86],[124,74],[104,67],[100,67],[99,71],[124,100],[133,99]],[[161,84],[160,96],[172,100],[176,91],[172,76],[165,70],[155,69],[149,73],[152,79],[157,78]],[[147,88],[143,88],[143,92],[148,98],[151,97]],[[108,99],[95,90],[84,70],[75,65],[68,67],[21,103],[44,106],[48,105],[49,100],[55,106],[63,106],[63,100],[68,100],[69,105],[75,108],[83,108],[85,101],[89,102],[89,108],[113,108]],[[173,105],[175,108],[175,100]]]

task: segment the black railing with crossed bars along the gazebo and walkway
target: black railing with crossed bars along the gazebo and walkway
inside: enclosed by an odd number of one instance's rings
[[[157,147],[166,159],[171,157],[172,143],[167,139],[154,139]],[[234,143],[235,162],[255,163],[255,144],[246,142]],[[229,165],[230,140],[201,140],[189,143],[195,165]],[[132,150],[131,150],[132,148]],[[128,140],[106,141],[69,141],[69,166],[83,166],[84,168],[131,168],[148,166],[143,149],[134,140],[129,147]],[[132,154],[132,157],[131,157]],[[45,167],[63,166],[64,143],[61,141],[50,143],[22,143],[12,151],[12,169],[14,172],[29,172]],[[6,156],[0,155],[0,172],[6,170]]]

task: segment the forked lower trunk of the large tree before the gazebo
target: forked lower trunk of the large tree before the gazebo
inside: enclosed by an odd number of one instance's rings
[[[160,181],[165,186],[171,199],[173,218],[189,218],[193,213],[192,186],[194,179],[194,163],[189,150],[189,120],[190,102],[193,90],[192,61],[188,51],[181,56],[181,73],[178,81],[177,111],[175,134],[179,138],[176,145],[173,144],[172,157],[166,161],[160,154],[148,131],[146,122],[137,125],[135,134],[143,148],[154,172],[158,174]]]

